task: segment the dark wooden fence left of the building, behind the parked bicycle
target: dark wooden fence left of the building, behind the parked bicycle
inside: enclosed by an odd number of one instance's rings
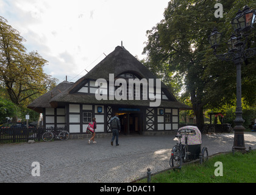
[[[0,143],[27,142],[29,140],[40,141],[44,132],[66,130],[65,127],[57,128],[5,128],[0,129]]]

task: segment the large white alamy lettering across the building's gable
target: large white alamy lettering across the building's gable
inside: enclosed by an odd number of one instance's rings
[[[142,85],[142,91],[141,91]],[[147,100],[150,107],[158,107],[161,104],[162,90],[160,79],[116,79],[114,74],[109,74],[108,82],[105,79],[97,79],[95,98],[101,100]],[[141,97],[142,94],[142,97]]]

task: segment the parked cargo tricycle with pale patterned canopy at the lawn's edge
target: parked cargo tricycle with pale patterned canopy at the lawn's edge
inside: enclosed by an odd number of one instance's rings
[[[182,163],[201,158],[202,161],[208,159],[207,147],[202,145],[202,136],[196,126],[180,127],[176,138],[179,143],[172,147],[169,165],[171,167],[181,168]]]

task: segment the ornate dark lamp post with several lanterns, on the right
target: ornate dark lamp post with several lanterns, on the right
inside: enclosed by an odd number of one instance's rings
[[[234,120],[234,142],[232,148],[235,151],[244,151],[246,149],[244,145],[244,120],[242,117],[243,112],[241,104],[241,65],[244,60],[256,55],[256,48],[246,49],[248,36],[251,33],[255,15],[255,10],[250,10],[247,5],[244,6],[243,11],[239,10],[238,13],[236,13],[235,18],[232,20],[235,34],[232,34],[230,40],[227,41],[229,51],[226,54],[216,54],[216,49],[221,40],[221,33],[219,33],[216,28],[213,29],[212,34],[208,38],[213,49],[213,54],[220,60],[232,61],[236,66],[236,118]]]

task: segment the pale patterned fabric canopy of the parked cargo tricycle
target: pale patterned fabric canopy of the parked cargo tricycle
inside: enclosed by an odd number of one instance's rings
[[[196,126],[185,126],[185,127],[180,127],[178,130],[179,134],[182,134],[184,130],[194,130],[195,133],[193,135],[188,134],[188,145],[197,145],[197,144],[202,144],[202,137],[201,137],[201,132]],[[185,136],[183,135],[181,138],[182,144],[185,144]]]

